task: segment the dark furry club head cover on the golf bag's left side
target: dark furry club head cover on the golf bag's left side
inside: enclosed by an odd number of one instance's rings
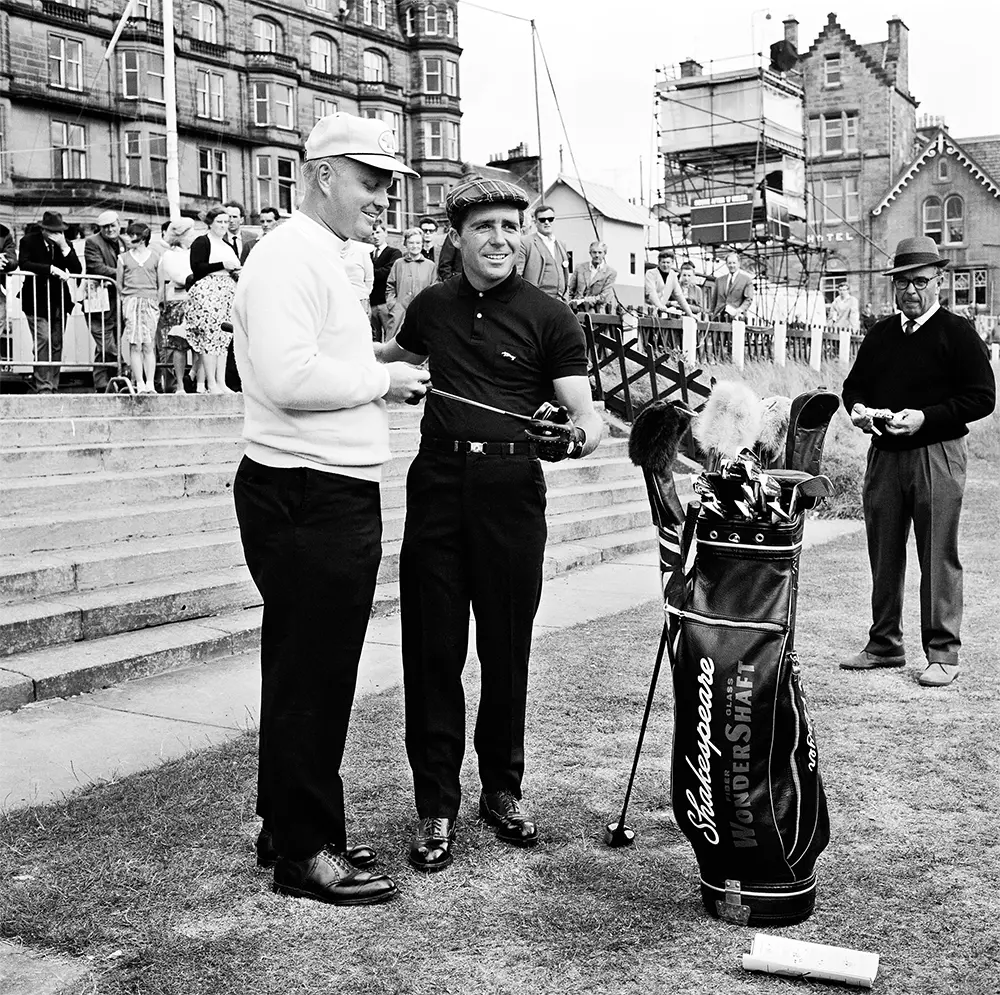
[[[636,415],[629,434],[629,459],[642,468],[653,523],[661,530],[684,521],[672,467],[691,417],[690,411],[670,401],[650,401]]]

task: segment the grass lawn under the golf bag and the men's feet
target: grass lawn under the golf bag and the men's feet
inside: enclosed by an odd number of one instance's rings
[[[774,932],[877,951],[879,992],[1000,991],[998,498],[998,463],[973,462],[967,647],[948,689],[916,683],[915,571],[911,666],[847,673],[837,662],[867,628],[863,536],[803,559],[798,649],[832,840],[812,918]],[[88,958],[92,980],[72,995],[831,991],[744,972],[752,931],[705,916],[693,852],[668,815],[666,672],[630,810],[637,845],[601,843],[656,651],[652,582],[650,598],[537,646],[525,785],[544,834],[537,850],[505,848],[480,826],[467,765],[455,865],[431,877],[407,868],[413,810],[396,689],[359,702],[345,769],[357,841],[384,854],[396,901],[341,910],[270,891],[252,864],[245,737],[0,821],[0,936]]]

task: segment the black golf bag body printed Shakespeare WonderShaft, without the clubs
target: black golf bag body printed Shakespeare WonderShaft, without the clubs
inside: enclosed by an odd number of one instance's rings
[[[703,515],[683,596],[667,597],[674,815],[706,910],[743,925],[812,913],[830,837],[793,649],[803,526]]]

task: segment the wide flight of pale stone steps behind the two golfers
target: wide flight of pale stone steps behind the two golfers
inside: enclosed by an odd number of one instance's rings
[[[256,647],[232,502],[242,397],[0,395],[0,711]],[[374,614],[397,608],[420,409],[390,409]],[[655,545],[626,440],[546,464],[547,577]]]

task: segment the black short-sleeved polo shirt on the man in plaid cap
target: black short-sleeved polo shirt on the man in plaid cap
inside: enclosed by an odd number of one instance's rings
[[[512,272],[479,291],[465,275],[422,290],[406,309],[396,341],[427,356],[440,390],[531,415],[553,399],[552,381],[587,375],[587,350],[576,315]],[[526,423],[431,394],[423,435],[473,442],[524,438]]]

